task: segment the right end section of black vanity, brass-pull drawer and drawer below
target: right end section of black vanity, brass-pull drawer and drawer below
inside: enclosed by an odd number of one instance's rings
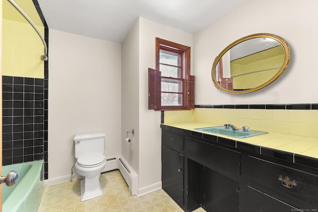
[[[249,212],[318,211],[318,171],[248,156]]]

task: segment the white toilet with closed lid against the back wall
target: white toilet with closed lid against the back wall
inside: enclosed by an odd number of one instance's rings
[[[104,139],[104,133],[76,134],[74,137],[75,169],[84,177],[80,182],[81,202],[103,195],[99,176],[106,165]]]

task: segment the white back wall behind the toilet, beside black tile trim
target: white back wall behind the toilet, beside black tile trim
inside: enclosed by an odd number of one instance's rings
[[[105,156],[121,152],[121,45],[57,30],[49,43],[51,183],[70,180],[74,135],[104,132]]]

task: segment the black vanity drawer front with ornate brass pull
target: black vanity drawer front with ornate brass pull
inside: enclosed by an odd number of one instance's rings
[[[318,207],[318,175],[249,156],[248,179]]]

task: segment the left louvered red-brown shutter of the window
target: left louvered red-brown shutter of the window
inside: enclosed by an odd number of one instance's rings
[[[148,69],[148,109],[161,109],[161,72]]]

